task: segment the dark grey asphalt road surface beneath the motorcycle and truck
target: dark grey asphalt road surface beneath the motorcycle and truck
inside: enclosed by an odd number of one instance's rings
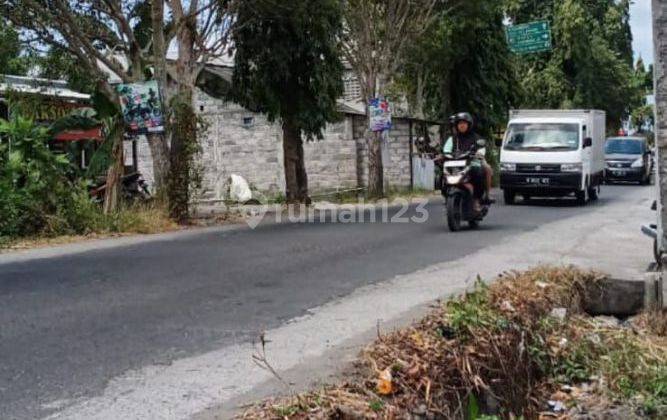
[[[358,287],[595,212],[629,188],[641,187],[607,188],[585,208],[497,205],[481,229],[457,234],[431,203],[425,223],[267,225],[1,264],[0,419],[48,415],[129,369],[252,340]]]

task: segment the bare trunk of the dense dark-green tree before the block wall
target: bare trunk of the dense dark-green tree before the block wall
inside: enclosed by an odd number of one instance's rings
[[[291,121],[283,122],[283,155],[287,202],[309,204],[308,174],[306,173],[301,129]]]

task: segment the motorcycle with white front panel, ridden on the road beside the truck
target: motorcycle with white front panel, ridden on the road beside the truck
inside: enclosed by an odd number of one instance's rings
[[[482,205],[480,211],[474,208],[474,187],[469,173],[474,162],[483,158],[486,141],[480,139],[476,146],[469,152],[443,156],[442,195],[447,209],[447,225],[452,232],[460,231],[463,222],[476,229],[489,213],[489,204]]]

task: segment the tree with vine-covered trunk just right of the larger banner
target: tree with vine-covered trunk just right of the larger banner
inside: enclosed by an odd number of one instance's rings
[[[243,3],[243,2],[241,2]],[[167,5],[171,20],[162,23]],[[168,36],[174,38],[178,57],[175,60],[173,80],[177,89],[169,103],[173,110],[169,182],[169,208],[172,217],[185,222],[189,217],[190,189],[198,177],[193,159],[199,148],[198,121],[195,114],[195,87],[199,74],[216,57],[226,54],[234,28],[231,17],[235,2],[231,0],[166,0],[152,2],[152,48],[158,83],[167,86],[169,74],[167,52]],[[162,30],[169,28],[167,34]],[[165,88],[165,96],[169,93]]]

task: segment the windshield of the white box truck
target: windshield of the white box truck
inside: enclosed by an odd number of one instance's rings
[[[510,124],[505,150],[567,151],[579,149],[578,124]]]

